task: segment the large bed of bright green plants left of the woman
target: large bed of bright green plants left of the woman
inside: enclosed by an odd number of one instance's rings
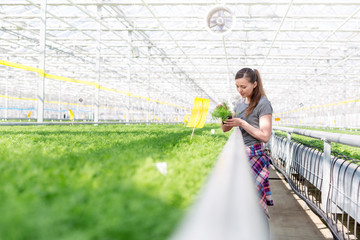
[[[215,128],[215,134],[211,134]],[[228,138],[218,125],[0,127],[0,239],[167,239]],[[162,175],[156,162],[167,162]]]

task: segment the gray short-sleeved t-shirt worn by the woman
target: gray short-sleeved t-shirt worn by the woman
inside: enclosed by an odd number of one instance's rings
[[[234,112],[235,112],[237,118],[241,118],[241,119],[245,120],[251,126],[256,127],[256,128],[259,128],[259,119],[261,116],[264,116],[265,114],[273,113],[271,103],[265,96],[261,97],[259,103],[256,105],[254,110],[249,114],[249,116],[245,117],[245,113],[246,113],[246,110],[248,107],[249,107],[249,104],[245,103],[245,99],[241,99],[235,105]],[[239,127],[239,128],[243,135],[244,143],[246,146],[251,146],[256,143],[261,143],[260,140],[251,136],[244,129],[242,129],[241,127]]]

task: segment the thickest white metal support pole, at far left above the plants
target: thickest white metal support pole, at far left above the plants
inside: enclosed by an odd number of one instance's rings
[[[39,68],[41,73],[38,77],[38,106],[37,106],[37,121],[42,123],[44,121],[44,97],[45,97],[45,48],[46,48],[46,7],[47,0],[41,1],[40,10],[40,62]]]

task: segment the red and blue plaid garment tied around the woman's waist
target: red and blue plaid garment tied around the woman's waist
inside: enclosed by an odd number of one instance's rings
[[[260,205],[269,217],[267,206],[274,205],[269,185],[269,157],[265,154],[261,143],[254,144],[247,150],[252,173],[255,177],[256,188],[259,193]]]

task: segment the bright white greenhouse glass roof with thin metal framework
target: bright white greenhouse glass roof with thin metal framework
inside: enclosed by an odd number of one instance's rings
[[[41,69],[45,36],[45,73],[87,83],[63,86],[64,98],[91,98],[100,79],[112,90],[104,105],[131,93],[186,109],[209,98],[214,107],[239,97],[242,67],[260,71],[275,113],[359,97],[358,0],[48,0],[45,13],[42,2],[1,0],[0,60]],[[235,17],[223,35],[207,29],[216,6]],[[19,81],[8,96],[36,97],[34,71],[0,69]],[[49,101],[58,90],[46,82]]]

